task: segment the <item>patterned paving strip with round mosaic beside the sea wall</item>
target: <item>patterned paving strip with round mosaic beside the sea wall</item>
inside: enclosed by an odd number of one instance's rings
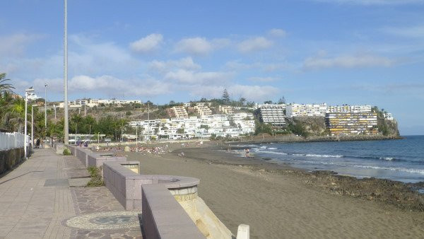
[[[88,176],[77,158],[66,158],[66,172],[74,179]],[[70,226],[71,238],[143,238],[141,211],[125,211],[106,187],[71,187],[76,216],[62,223]],[[140,215],[139,215],[140,214]]]

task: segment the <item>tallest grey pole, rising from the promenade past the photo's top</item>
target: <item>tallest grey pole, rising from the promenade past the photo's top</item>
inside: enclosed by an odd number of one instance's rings
[[[68,1],[64,0],[64,142],[69,144],[68,119]]]

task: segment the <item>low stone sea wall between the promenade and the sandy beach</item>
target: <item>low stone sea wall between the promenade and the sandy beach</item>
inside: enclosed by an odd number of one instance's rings
[[[173,175],[141,175],[139,161],[68,146],[85,165],[102,166],[105,186],[127,211],[143,212],[147,238],[234,238],[197,195],[200,180]]]

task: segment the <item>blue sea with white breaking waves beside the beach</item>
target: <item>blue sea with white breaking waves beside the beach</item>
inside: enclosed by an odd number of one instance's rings
[[[358,178],[424,181],[424,136],[379,141],[331,141],[245,145],[254,156],[305,170],[332,170]]]

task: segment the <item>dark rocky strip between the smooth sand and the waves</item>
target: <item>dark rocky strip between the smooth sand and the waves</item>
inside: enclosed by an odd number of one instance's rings
[[[202,161],[204,159],[196,157],[196,151],[199,148],[177,149],[172,153],[184,151],[187,158]],[[240,147],[230,148],[231,150],[240,149]],[[292,174],[300,177],[308,185],[320,187],[322,190],[328,190],[331,194],[356,197],[375,202],[384,202],[391,204],[402,210],[413,210],[424,212],[424,182],[401,182],[396,180],[382,179],[376,177],[358,178],[355,175],[338,174],[331,170],[306,170],[304,168],[293,167],[286,163],[270,162],[272,158],[252,156],[244,158],[235,156],[233,151],[227,152],[222,147],[202,148],[204,151],[220,151],[220,153],[232,154],[228,159],[216,158],[210,163],[221,165],[242,165],[251,167],[252,170],[264,170],[269,173]],[[188,152],[187,152],[188,151]],[[240,159],[235,159],[240,158]],[[389,192],[384,194],[382,192]]]

